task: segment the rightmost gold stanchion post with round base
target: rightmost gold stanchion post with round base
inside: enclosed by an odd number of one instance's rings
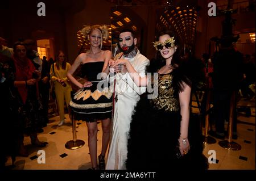
[[[230,110],[229,110],[229,137],[228,140],[224,141],[219,141],[218,144],[228,150],[241,150],[241,145],[237,144],[236,142],[232,141],[232,133],[233,133],[233,119],[234,119],[234,109],[236,108],[236,103],[235,103],[235,96],[236,92],[232,92],[232,97],[230,100]]]

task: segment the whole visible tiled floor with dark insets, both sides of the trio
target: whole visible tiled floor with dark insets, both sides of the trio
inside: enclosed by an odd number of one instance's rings
[[[255,170],[255,108],[251,108],[252,116],[238,116],[242,123],[237,124],[238,139],[234,140],[241,145],[241,150],[228,150],[215,144],[205,145],[204,154],[209,157],[209,150],[216,151],[217,163],[212,163],[209,170]],[[84,140],[85,145],[79,149],[69,150],[65,148],[65,143],[73,139],[72,124],[66,115],[66,123],[58,127],[59,117],[55,116],[50,119],[50,123],[44,128],[43,133],[39,133],[41,141],[47,141],[48,145],[42,150],[46,153],[46,163],[38,163],[38,148],[34,148],[30,143],[30,138],[25,137],[26,145],[30,155],[28,158],[16,157],[14,170],[84,170],[90,168],[90,155],[88,150],[88,136],[85,122],[77,128],[77,139]],[[249,123],[249,124],[247,124]],[[98,124],[98,154],[101,150],[101,123]],[[227,140],[227,138],[226,138]],[[65,157],[60,157],[64,154]],[[67,155],[65,155],[67,154]],[[37,156],[37,157],[36,157]],[[34,159],[33,159],[34,158]],[[8,159],[7,165],[11,165],[11,158]]]

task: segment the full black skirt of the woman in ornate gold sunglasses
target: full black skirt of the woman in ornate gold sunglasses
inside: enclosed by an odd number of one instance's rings
[[[200,122],[191,116],[189,121],[189,144],[191,150],[183,157],[179,153],[180,112],[155,109],[146,94],[135,107],[128,140],[127,169],[169,170],[187,167],[207,169],[203,155],[203,137]]]

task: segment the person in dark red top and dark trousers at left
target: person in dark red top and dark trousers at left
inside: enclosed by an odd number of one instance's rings
[[[38,82],[40,81],[41,73],[36,70],[32,61],[27,58],[26,45],[22,42],[14,44],[14,86],[18,89],[22,100],[22,115],[23,131],[30,135],[31,144],[39,147],[46,146],[45,142],[38,140],[38,129],[42,125],[42,104],[39,96]],[[20,135],[19,140],[19,155],[28,156],[27,150],[23,145],[24,136]]]

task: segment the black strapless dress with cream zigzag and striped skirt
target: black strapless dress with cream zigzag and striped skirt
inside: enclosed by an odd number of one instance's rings
[[[106,79],[97,79],[103,65],[103,61],[81,65],[81,77],[86,76],[93,85],[80,89],[71,96],[69,106],[76,120],[94,122],[112,117],[112,92],[109,91],[109,83]]]

